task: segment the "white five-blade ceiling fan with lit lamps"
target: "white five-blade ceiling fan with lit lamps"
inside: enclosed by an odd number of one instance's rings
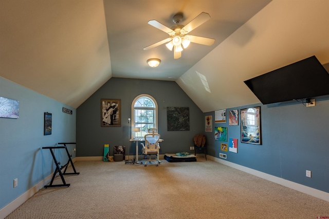
[[[197,15],[190,23],[187,25],[180,25],[181,20],[183,19],[182,13],[177,13],[173,16],[174,26],[171,28],[157,22],[156,20],[151,20],[148,24],[152,25],[159,30],[162,30],[169,34],[169,38],[147,46],[144,50],[152,49],[154,47],[160,46],[164,43],[167,43],[166,46],[169,50],[174,49],[174,59],[179,59],[181,57],[181,51],[184,48],[187,48],[192,43],[198,43],[202,45],[211,46],[215,39],[205,38],[202,36],[189,35],[188,33],[202,25],[206,21],[210,19],[210,15],[208,13],[202,12]]]

